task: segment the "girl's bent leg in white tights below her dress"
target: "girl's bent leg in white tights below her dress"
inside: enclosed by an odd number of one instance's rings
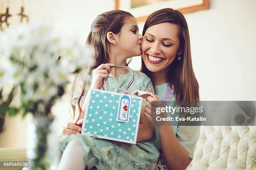
[[[73,138],[65,148],[57,170],[84,170],[84,148],[78,138]]]

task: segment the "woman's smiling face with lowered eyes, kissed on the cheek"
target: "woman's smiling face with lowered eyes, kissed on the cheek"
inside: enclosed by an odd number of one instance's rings
[[[142,40],[143,61],[151,72],[167,69],[179,50],[179,26],[160,23],[149,27]],[[180,55],[179,52],[178,55]]]

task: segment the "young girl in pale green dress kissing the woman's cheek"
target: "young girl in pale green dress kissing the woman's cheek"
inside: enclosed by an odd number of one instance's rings
[[[132,74],[125,69],[110,68],[110,65],[126,66],[128,58],[141,55],[141,40],[136,19],[130,13],[113,10],[98,15],[92,23],[86,42],[94,49],[94,65],[89,71],[89,74],[92,74],[90,88],[100,89],[102,80],[105,79],[106,90],[121,92],[120,89],[125,89]],[[145,74],[135,70],[133,72],[134,81],[129,91],[154,92],[151,80]],[[73,109],[78,110],[79,118],[83,118],[87,101],[83,96],[88,87],[84,88],[85,85],[80,80],[74,84],[76,89],[71,93],[74,93],[72,98],[76,101],[76,107]],[[70,135],[61,143],[64,153],[58,169],[84,170],[86,166],[89,169],[96,167],[98,170],[154,169],[159,152],[153,143],[146,141],[153,135],[154,128],[143,113],[144,110],[141,110],[137,138],[140,143],[132,145],[81,134]],[[81,122],[79,120],[77,123]],[[80,127],[76,124],[69,123],[63,133],[79,133],[81,129],[78,128]]]

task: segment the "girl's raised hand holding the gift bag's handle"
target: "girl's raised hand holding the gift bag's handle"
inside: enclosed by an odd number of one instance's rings
[[[105,81],[108,80],[109,73],[113,69],[113,67],[109,67],[110,65],[113,64],[101,64],[99,67],[93,70],[91,88],[100,89],[103,85],[103,79],[105,79]]]

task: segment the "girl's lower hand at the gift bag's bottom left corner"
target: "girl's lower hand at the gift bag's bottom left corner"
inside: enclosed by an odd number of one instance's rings
[[[77,124],[74,124],[73,122],[67,122],[63,125],[62,129],[62,135],[71,135],[76,133],[81,133],[82,130],[82,123],[84,119],[78,120]]]

